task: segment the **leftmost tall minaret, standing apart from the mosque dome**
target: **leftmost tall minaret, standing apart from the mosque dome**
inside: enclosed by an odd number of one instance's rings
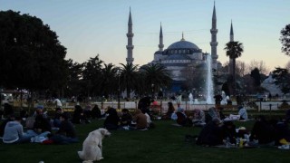
[[[128,21],[128,34],[127,34],[128,45],[126,46],[126,48],[127,48],[127,58],[126,58],[127,63],[132,63],[134,61],[134,58],[133,58],[133,49],[134,49],[133,36],[134,36],[134,34],[132,33],[132,25],[133,24],[132,24],[131,8],[130,8],[129,21]]]

